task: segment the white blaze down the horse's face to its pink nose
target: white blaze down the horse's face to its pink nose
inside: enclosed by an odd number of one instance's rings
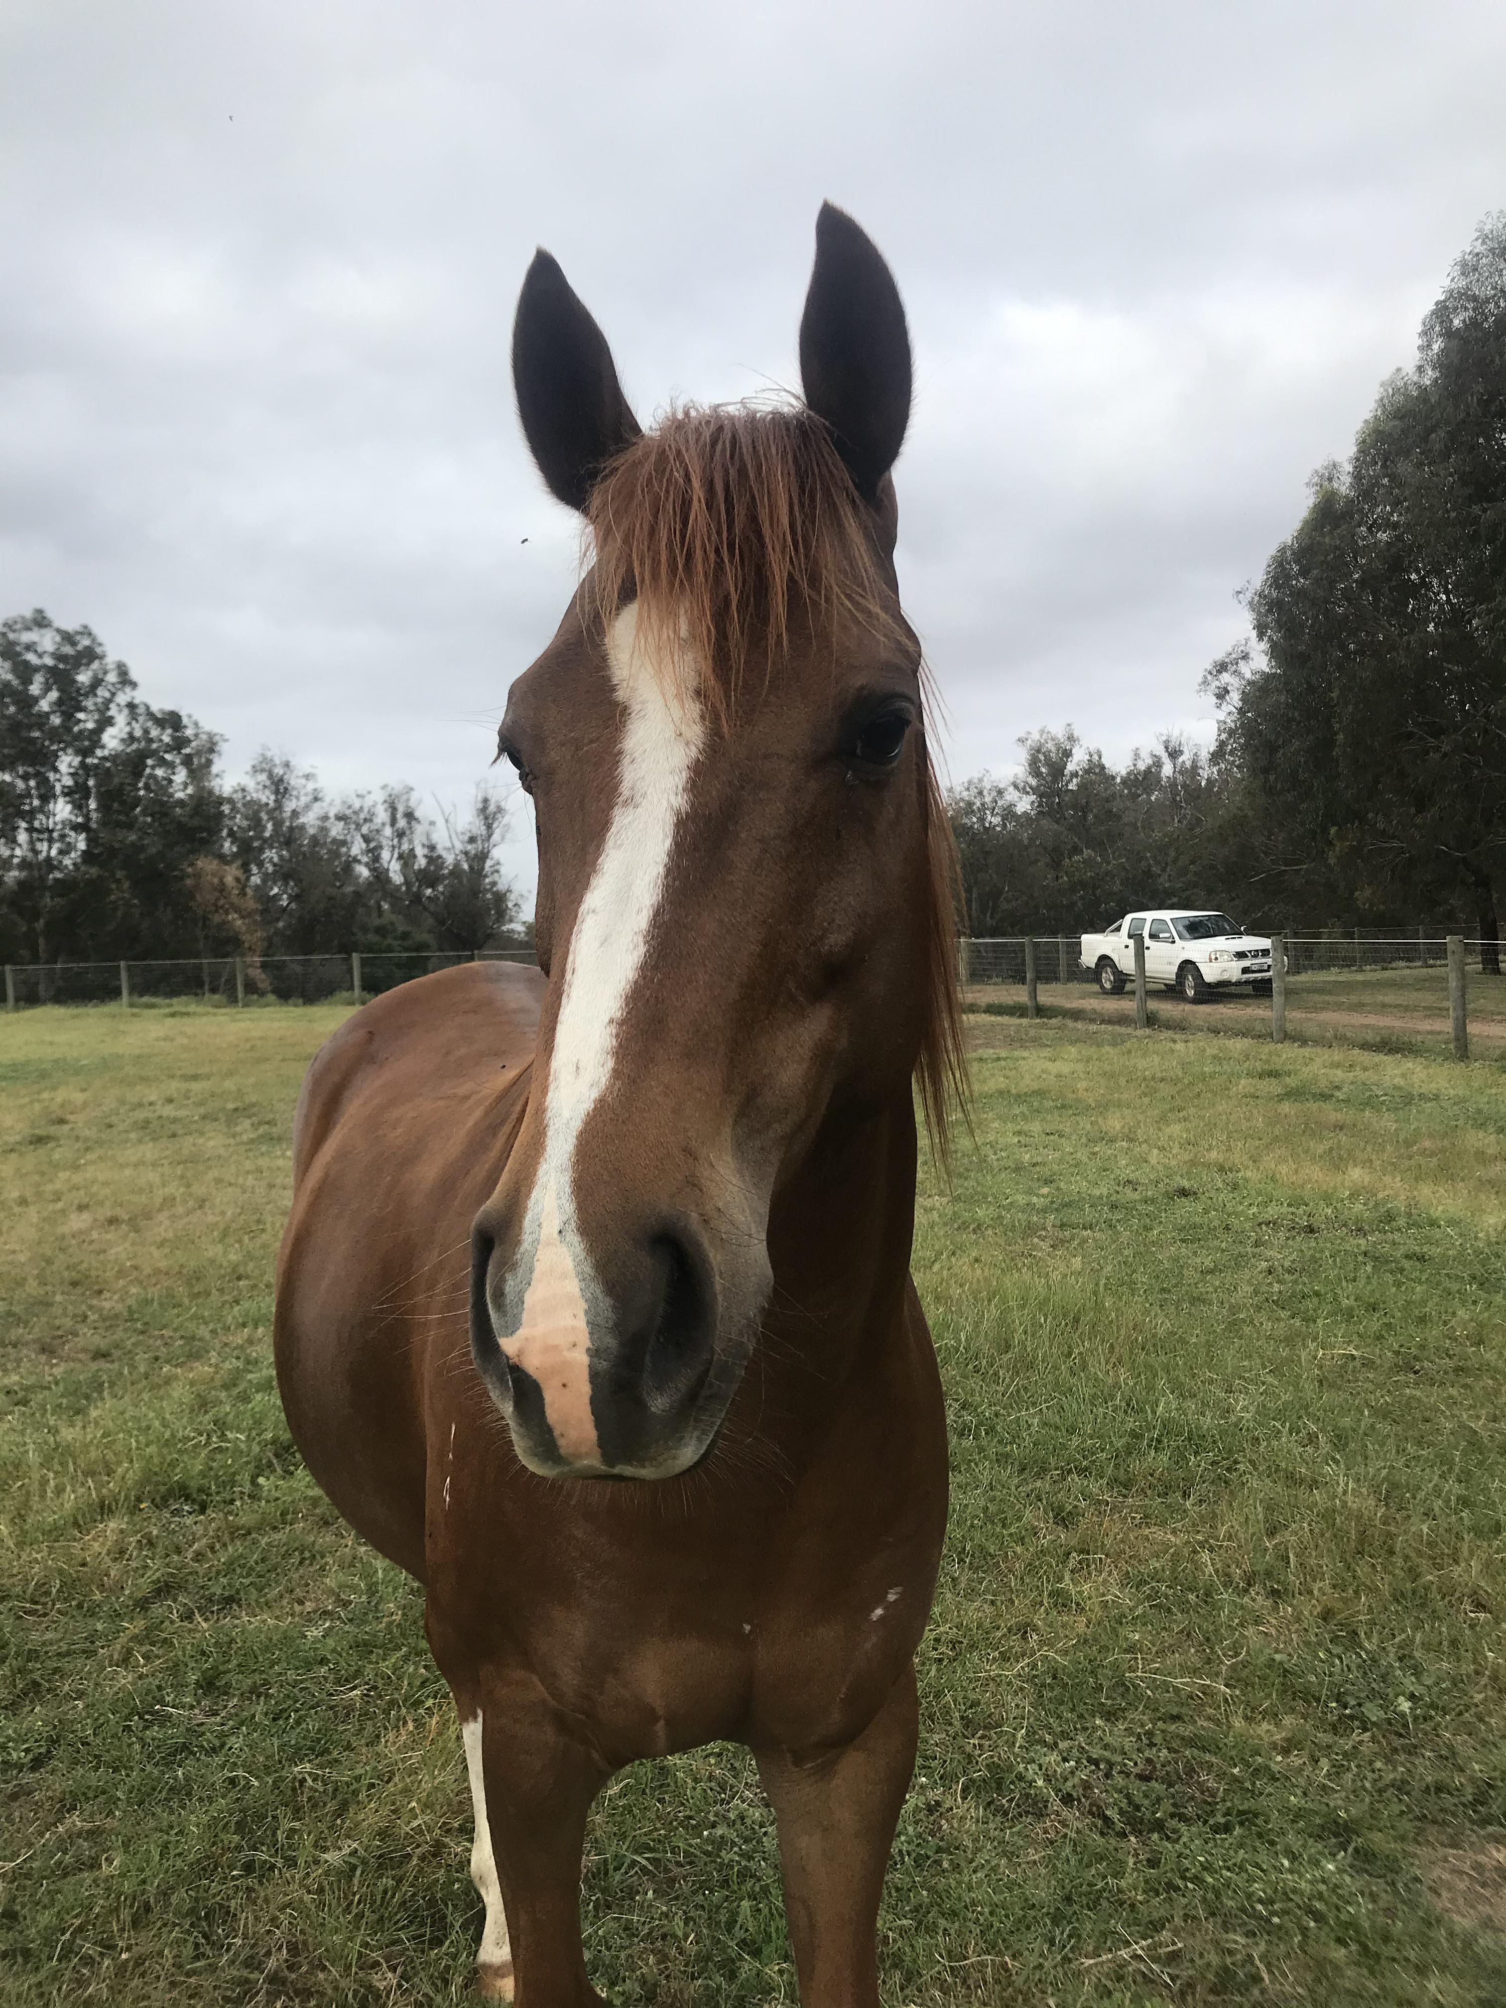
[[[685,665],[655,663],[639,647],[637,606],[624,606],[608,626],[606,663],[622,705],[616,803],[570,934],[544,1151],[506,1281],[506,1315],[498,1319],[508,1359],[538,1382],[554,1440],[572,1464],[600,1464],[590,1414],[590,1325],[600,1329],[610,1317],[576,1221],[574,1147],[612,1078],[616,1032],[643,968],[705,737],[695,679],[673,673]]]

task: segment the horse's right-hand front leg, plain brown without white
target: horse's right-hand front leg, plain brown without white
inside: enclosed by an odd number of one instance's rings
[[[803,2008],[877,2008],[877,1908],[916,1767],[916,1669],[845,1749],[813,1763],[757,1751],[779,1823]]]

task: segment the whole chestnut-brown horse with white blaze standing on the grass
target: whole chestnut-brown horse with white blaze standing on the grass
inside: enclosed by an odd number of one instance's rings
[[[534,259],[518,408],[594,540],[500,733],[536,803],[540,972],[378,998],[297,1112],[287,1418],[424,1584],[478,1984],[516,1976],[522,2008],[600,2000],[580,1851],[604,1779],[713,1739],[773,1801],[801,2000],[877,2002],[946,1522],[912,1080],[944,1124],[958,1020],[894,576],[910,341],[831,207],[799,355],[805,404],[643,434]]]

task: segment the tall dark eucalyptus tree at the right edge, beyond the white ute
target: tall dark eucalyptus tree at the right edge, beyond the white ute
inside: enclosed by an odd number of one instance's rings
[[[1223,757],[1361,910],[1506,898],[1506,215],[1488,217],[1221,659]]]

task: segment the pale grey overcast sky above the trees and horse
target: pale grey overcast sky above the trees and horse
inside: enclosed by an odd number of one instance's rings
[[[954,779],[1207,735],[1235,588],[1506,207],[1504,86],[1500,0],[4,0],[0,612],[231,773],[464,805],[578,552],[506,371],[534,245],[649,420],[797,382],[831,197],[910,311]]]

